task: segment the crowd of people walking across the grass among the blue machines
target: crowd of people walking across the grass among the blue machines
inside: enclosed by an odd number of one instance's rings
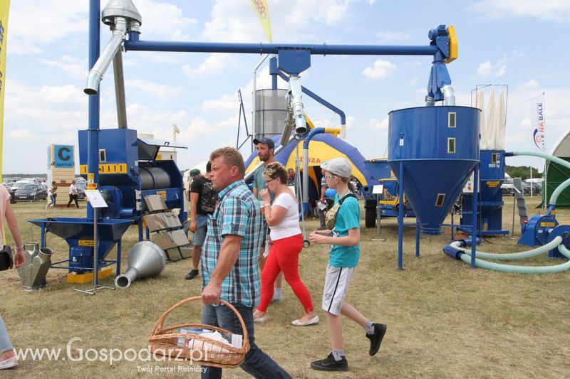
[[[218,326],[242,334],[237,315],[220,300],[232,304],[244,320],[250,350],[242,367],[256,378],[291,378],[255,342],[254,323],[268,320],[271,301],[282,300],[281,274],[303,308],[294,326],[318,324],[313,297],[299,276],[299,256],[304,237],[299,225],[299,203],[291,189],[295,171],[274,159],[271,139],[256,139],[257,154],[264,165],[254,174],[253,189],[244,181],[245,165],[237,149],[224,147],[209,156],[206,173],[195,176],[190,186],[190,231],[192,269],[186,279],[202,277],[202,324]],[[291,172],[292,171],[292,172]],[[309,235],[315,245],[329,245],[328,264],[321,309],[331,338],[331,353],[310,363],[314,370],[348,370],[343,346],[341,315],[361,325],[370,341],[368,353],[374,356],[386,332],[385,324],[375,323],[345,301],[348,287],[360,259],[360,206],[351,185],[352,166],[345,158],[321,164],[321,193],[336,191],[333,207],[322,207],[321,228]],[[72,186],[75,183],[72,183]],[[55,203],[56,183],[50,190]],[[70,189],[68,206],[76,201]],[[324,196],[324,195],[323,195]],[[321,196],[320,202],[325,198]],[[77,205],[77,203],[76,203]],[[14,266],[24,264],[23,244],[9,195],[0,186],[0,244],[4,218],[16,243]],[[260,274],[261,271],[261,274]],[[0,369],[18,364],[4,322],[0,317]],[[222,369],[204,368],[202,378],[221,378]]]

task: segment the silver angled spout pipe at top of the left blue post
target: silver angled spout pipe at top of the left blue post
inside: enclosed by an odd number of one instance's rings
[[[115,28],[113,34],[111,35],[110,41],[107,46],[103,49],[103,53],[99,56],[93,68],[89,71],[87,76],[87,84],[83,89],[87,95],[95,96],[99,92],[99,83],[103,79],[103,74],[109,67],[111,60],[115,58],[117,52],[120,50],[120,46],[127,36],[127,19],[124,17],[115,17]]]

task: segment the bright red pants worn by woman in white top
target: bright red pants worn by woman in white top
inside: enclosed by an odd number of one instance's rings
[[[285,280],[293,289],[297,299],[303,304],[306,312],[313,311],[313,301],[309,289],[301,282],[299,277],[299,254],[303,249],[303,235],[276,240],[271,245],[269,256],[261,272],[261,301],[257,309],[267,311],[267,306],[273,297],[273,283],[279,272],[283,272]]]

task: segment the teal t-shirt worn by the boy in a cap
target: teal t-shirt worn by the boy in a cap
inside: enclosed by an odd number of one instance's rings
[[[334,203],[338,203],[338,195],[334,198]],[[358,200],[353,197],[344,199],[338,213],[331,235],[333,237],[344,237],[348,235],[348,230],[361,227],[361,207]],[[340,246],[331,245],[328,253],[328,264],[333,267],[356,267],[361,257],[361,245]]]

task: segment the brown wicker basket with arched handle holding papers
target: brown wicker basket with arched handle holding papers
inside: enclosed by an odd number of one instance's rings
[[[201,336],[194,333],[180,333],[180,328],[199,328],[209,329],[212,331],[219,331],[220,333],[230,333],[224,329],[216,326],[204,324],[181,324],[169,326],[163,329],[163,324],[167,316],[177,309],[179,306],[190,303],[190,301],[201,300],[201,296],[189,297],[187,299],[178,301],[170,309],[165,311],[160,319],[158,319],[155,329],[152,329],[148,336],[150,343],[150,351],[155,356],[164,356],[170,361],[191,361],[192,363],[199,363],[200,365],[219,367],[219,368],[235,368],[244,362],[245,355],[249,351],[249,336],[244,319],[239,312],[229,304],[227,301],[221,300],[220,302],[232,309],[237,315],[239,322],[242,324],[243,338],[242,347],[237,348],[229,346],[229,344],[215,341],[211,338]],[[190,346],[179,346],[178,338],[192,338]]]

